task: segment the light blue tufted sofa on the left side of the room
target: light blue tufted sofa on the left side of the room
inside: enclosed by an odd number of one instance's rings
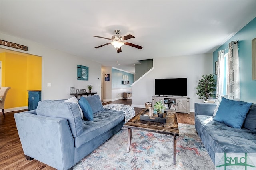
[[[78,104],[64,101],[40,101],[36,110],[14,114],[26,159],[70,169],[123,127],[122,111],[103,108],[98,95],[85,98],[93,121],[82,119]]]

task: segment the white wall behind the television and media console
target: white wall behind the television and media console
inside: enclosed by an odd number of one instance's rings
[[[194,112],[194,103],[203,101],[196,95],[197,83],[202,75],[212,73],[212,62],[212,53],[154,59],[154,69],[132,85],[132,106],[143,108],[145,102],[152,101],[156,78],[187,78],[187,97]]]

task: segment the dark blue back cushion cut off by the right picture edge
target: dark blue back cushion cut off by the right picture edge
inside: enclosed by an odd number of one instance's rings
[[[244,120],[244,128],[256,132],[256,104],[252,104]]]

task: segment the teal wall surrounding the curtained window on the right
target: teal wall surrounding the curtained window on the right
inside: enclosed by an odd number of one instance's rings
[[[228,48],[228,43],[231,41],[239,41],[238,54],[240,64],[241,101],[252,103],[256,103],[256,80],[252,80],[252,40],[254,38],[256,38],[256,18],[213,52],[213,72],[215,73],[215,62],[218,58],[218,51]]]

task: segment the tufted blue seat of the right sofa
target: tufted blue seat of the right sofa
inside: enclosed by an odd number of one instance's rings
[[[195,127],[213,162],[215,153],[254,153],[256,150],[256,132],[251,130],[229,127],[207,115],[196,115]]]

